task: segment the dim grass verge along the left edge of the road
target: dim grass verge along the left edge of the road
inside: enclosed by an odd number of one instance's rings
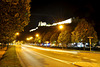
[[[0,67],[22,67],[17,58],[15,46],[9,46],[4,56],[0,59]]]

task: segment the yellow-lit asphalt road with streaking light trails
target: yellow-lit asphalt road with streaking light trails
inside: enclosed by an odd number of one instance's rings
[[[16,45],[16,52],[23,67],[100,67],[98,58],[77,51]]]

